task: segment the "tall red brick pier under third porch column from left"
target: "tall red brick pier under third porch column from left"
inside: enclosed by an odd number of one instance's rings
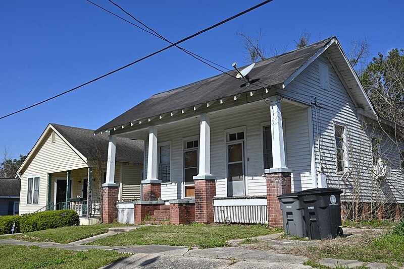
[[[214,222],[213,197],[216,195],[215,179],[197,179],[195,182],[195,222]]]

